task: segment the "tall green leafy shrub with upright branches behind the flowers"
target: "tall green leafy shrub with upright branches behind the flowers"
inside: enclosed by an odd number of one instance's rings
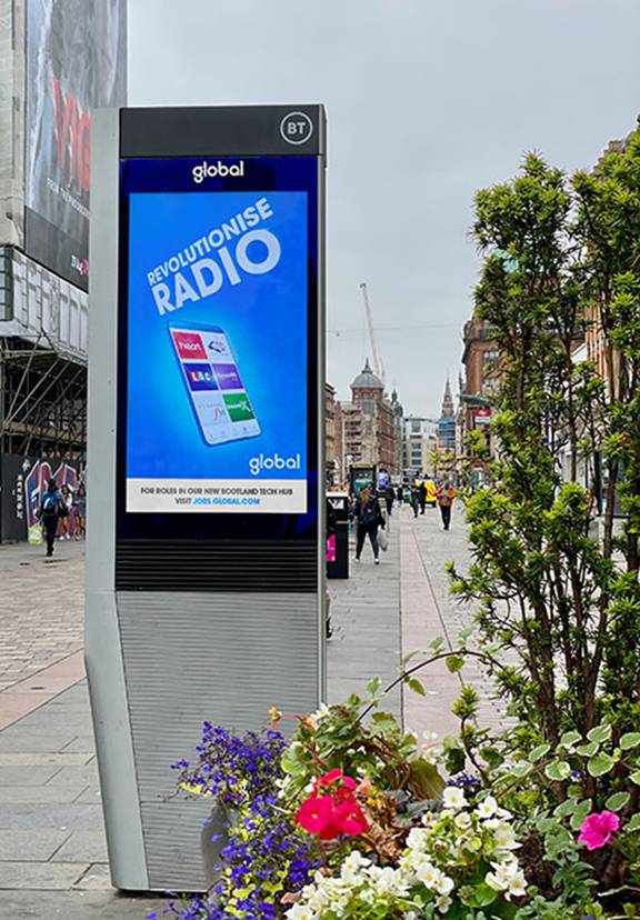
[[[606,723],[617,743],[640,723],[640,131],[571,178],[529,154],[517,178],[477,194],[473,237],[477,314],[500,349],[500,456],[493,487],[469,499],[474,560],[453,570],[453,590],[479,604],[521,740],[554,748]],[[574,359],[586,334],[599,362]],[[598,809],[624,790],[624,821],[639,808],[638,776],[620,758],[604,767],[584,771],[581,792]],[[603,883],[621,860],[600,858]]]

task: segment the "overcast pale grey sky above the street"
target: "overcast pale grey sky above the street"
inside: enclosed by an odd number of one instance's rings
[[[370,349],[439,412],[478,271],[476,189],[591,166],[640,112],[640,0],[129,0],[131,104],[324,102],[329,380]]]

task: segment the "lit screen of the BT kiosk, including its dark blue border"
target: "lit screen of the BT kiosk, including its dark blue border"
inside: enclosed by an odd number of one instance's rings
[[[314,171],[293,172],[291,158],[122,163],[128,514],[310,510]]]

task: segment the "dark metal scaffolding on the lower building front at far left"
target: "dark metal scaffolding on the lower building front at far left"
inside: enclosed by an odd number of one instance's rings
[[[83,468],[86,446],[86,358],[61,349],[43,330],[0,336],[0,453],[54,457]]]

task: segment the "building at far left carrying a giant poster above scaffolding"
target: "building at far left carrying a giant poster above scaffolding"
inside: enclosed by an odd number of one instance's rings
[[[84,467],[90,113],[127,101],[126,3],[0,0],[0,56],[2,540]]]

